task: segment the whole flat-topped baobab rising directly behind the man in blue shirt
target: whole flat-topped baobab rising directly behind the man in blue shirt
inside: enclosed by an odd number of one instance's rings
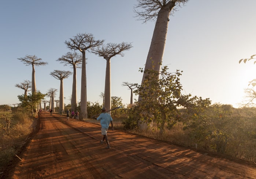
[[[105,101],[104,106],[107,110],[111,108],[111,58],[115,55],[124,56],[123,51],[131,49],[131,43],[122,42],[119,44],[116,43],[107,43],[106,45],[98,46],[94,48],[93,53],[103,57],[107,61],[106,65],[106,75],[105,75]],[[111,112],[109,112],[111,113]]]

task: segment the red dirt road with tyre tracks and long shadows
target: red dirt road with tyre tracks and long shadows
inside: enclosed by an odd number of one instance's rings
[[[13,179],[256,178],[256,165],[214,157],[123,131],[109,131],[101,145],[100,125],[41,113],[40,130],[12,167]],[[114,122],[115,125],[115,122]]]

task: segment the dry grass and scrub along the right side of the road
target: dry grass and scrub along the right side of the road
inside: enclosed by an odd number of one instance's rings
[[[180,109],[181,114],[185,109]],[[200,115],[183,118],[162,132],[156,122],[145,131],[138,128],[136,106],[123,121],[127,131],[199,150],[256,162],[256,108],[213,104]]]

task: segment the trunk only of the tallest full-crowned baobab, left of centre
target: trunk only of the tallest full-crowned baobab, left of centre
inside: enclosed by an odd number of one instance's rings
[[[85,50],[82,51],[82,74],[81,74],[81,118],[87,118],[87,87],[86,87],[86,62]]]

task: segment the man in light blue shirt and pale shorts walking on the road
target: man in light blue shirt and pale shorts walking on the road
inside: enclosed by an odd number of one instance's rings
[[[106,108],[103,107],[101,109],[101,114],[99,117],[97,117],[97,121],[100,121],[100,125],[101,125],[101,135],[103,135],[103,139],[100,141],[101,144],[103,144],[104,140],[106,140],[107,143],[107,149],[110,148],[110,143],[108,142],[108,137],[107,137],[107,132],[108,132],[108,127],[111,123],[111,127],[112,127],[112,131],[114,131],[114,127],[113,127],[113,119],[110,116],[110,114],[105,113],[106,112]]]

